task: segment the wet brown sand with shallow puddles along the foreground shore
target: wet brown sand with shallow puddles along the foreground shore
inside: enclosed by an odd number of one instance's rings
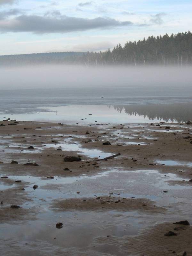
[[[192,223],[192,125],[11,123],[0,122],[1,255],[192,255],[191,226],[172,224]]]

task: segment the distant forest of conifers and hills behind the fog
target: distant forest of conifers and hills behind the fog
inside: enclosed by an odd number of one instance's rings
[[[147,39],[118,44],[105,52],[54,52],[0,56],[0,65],[83,64],[98,65],[174,65],[192,64],[192,32],[169,36],[149,36]]]

